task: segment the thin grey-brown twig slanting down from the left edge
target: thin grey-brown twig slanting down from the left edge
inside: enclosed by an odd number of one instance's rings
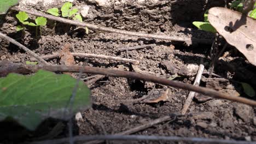
[[[14,39],[12,39],[12,38],[10,38],[10,37],[8,37],[7,35],[5,35],[5,34],[3,34],[3,33],[1,33],[1,32],[0,32],[0,38],[6,39],[6,40],[10,41],[10,43],[13,43],[13,44],[15,44],[16,46],[19,46],[20,49],[26,51],[27,53],[30,53],[30,55],[32,55],[33,57],[35,57],[35,58],[38,60],[38,62],[40,62],[40,63],[42,63],[42,64],[48,64],[46,61],[44,61],[43,58],[40,58],[40,56],[38,56],[36,53],[34,53],[33,51],[31,51],[30,49],[27,49],[26,46],[20,44],[18,41],[14,40]]]

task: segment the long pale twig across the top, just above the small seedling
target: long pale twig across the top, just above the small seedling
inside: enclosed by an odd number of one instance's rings
[[[28,9],[24,9],[24,8],[20,8],[20,7],[13,7],[11,9],[16,10],[16,11],[25,11],[27,14],[36,15],[36,16],[43,16],[43,17],[45,17],[47,19],[50,19],[50,20],[64,22],[64,23],[68,23],[70,25],[76,25],[76,26],[81,26],[81,27],[88,27],[88,28],[91,28],[91,29],[97,29],[99,31],[126,34],[126,35],[133,35],[133,36],[144,37],[144,38],[164,39],[164,40],[173,40],[173,41],[195,41],[197,43],[204,43],[204,44],[212,43],[211,39],[197,39],[197,38],[177,37],[177,36],[169,36],[169,35],[158,35],[158,34],[130,32],[130,31],[124,31],[124,30],[120,30],[120,29],[114,29],[114,28],[92,25],[90,23],[85,23],[85,22],[68,20],[68,19],[64,19],[62,17],[56,17],[56,16],[53,16],[53,15],[44,14],[40,11],[32,11],[32,10],[28,10]]]

